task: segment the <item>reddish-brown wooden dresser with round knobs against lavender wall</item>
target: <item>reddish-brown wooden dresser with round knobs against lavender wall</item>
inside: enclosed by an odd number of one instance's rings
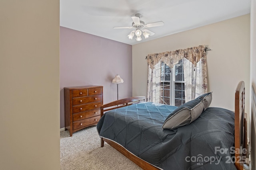
[[[85,127],[96,125],[103,104],[103,86],[65,87],[65,129],[70,136]]]

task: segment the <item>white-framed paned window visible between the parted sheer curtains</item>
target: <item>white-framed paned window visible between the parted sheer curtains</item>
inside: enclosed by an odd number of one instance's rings
[[[161,63],[160,103],[180,106],[185,103],[183,59],[171,69]]]

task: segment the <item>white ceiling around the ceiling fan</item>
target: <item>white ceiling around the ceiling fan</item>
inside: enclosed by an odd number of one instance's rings
[[[166,35],[250,13],[250,0],[60,0],[60,26],[134,45]],[[151,27],[152,35],[142,41],[127,35],[135,14],[145,23],[163,21]]]

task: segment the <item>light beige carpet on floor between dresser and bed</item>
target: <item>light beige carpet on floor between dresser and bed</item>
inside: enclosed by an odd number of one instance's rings
[[[142,170],[120,152],[105,143],[100,147],[96,126],[87,127],[69,136],[60,132],[61,170]]]

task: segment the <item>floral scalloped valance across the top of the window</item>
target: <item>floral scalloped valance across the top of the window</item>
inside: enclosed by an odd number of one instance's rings
[[[191,63],[196,64],[200,59],[205,56],[205,45],[199,45],[198,47],[191,47],[187,49],[178,49],[176,51],[166,51],[163,53],[149,54],[147,55],[148,65],[151,69],[154,68],[160,60],[166,63],[170,68],[177,64],[183,57],[188,59]]]

